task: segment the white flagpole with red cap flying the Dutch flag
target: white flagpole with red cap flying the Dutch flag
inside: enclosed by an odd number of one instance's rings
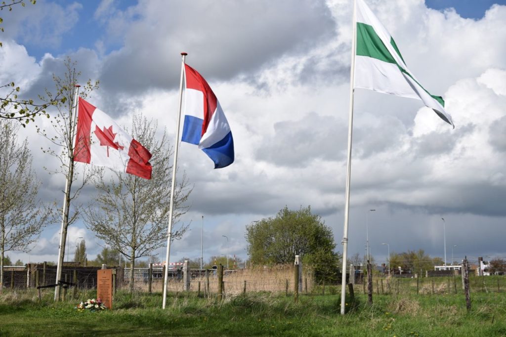
[[[168,259],[171,256],[171,236],[172,236],[172,219],[174,214],[174,191],[176,189],[176,168],[178,167],[178,149],[179,149],[179,129],[181,124],[181,103],[183,101],[183,76],[185,73],[185,57],[187,53],[181,53],[181,82],[179,85],[179,109],[178,109],[178,122],[176,131],[176,144],[174,145],[174,165],[172,166],[172,187],[171,187],[171,207],[170,215],[168,218],[167,229],[167,254],[165,255],[165,274],[163,275],[163,304],[162,309],[165,309],[167,302],[167,276],[168,276]]]

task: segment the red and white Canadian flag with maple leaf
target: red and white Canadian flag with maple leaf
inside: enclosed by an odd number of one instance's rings
[[[105,112],[79,97],[74,161],[151,179],[151,153]]]

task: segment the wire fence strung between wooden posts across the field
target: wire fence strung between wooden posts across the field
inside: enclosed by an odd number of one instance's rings
[[[471,292],[501,293],[506,290],[506,269],[495,270],[487,274],[487,268],[478,265],[478,260],[471,260],[475,269],[470,270],[469,284]],[[29,266],[28,266],[29,267]],[[7,267],[4,271],[4,288],[29,288],[51,285],[56,282],[56,267],[41,264],[28,267]],[[329,281],[325,277],[316,279],[314,270],[317,265],[305,264],[302,276],[299,278],[299,293],[307,294],[339,294],[341,280]],[[473,268],[473,267],[471,267]],[[65,266],[62,270],[62,280],[76,283],[78,288],[93,289],[97,285],[97,270],[99,267]],[[223,293],[226,296],[236,296],[244,292],[271,292],[292,294],[296,280],[293,265],[258,266],[247,269],[225,270],[223,274]],[[38,273],[38,279],[35,278]],[[463,291],[463,281],[460,270],[434,271],[420,269],[417,273],[404,272],[395,274],[393,270],[378,268],[372,272],[372,288],[375,294],[397,295],[442,295],[457,294]],[[503,273],[504,272],[504,273]],[[151,273],[151,276],[150,276]],[[134,290],[146,292],[161,292],[163,290],[163,273],[161,268],[136,268],[134,270]],[[199,292],[210,296],[220,290],[219,275],[215,269],[191,269],[189,277],[185,278],[183,269],[170,269],[168,273],[167,290],[170,292]],[[130,287],[130,269],[115,268],[115,288],[128,289]],[[339,273],[338,273],[339,274]],[[357,293],[367,292],[367,277],[358,269],[354,271],[354,289]],[[479,275],[479,276],[478,276]],[[188,279],[188,284],[186,283]],[[75,282],[74,282],[75,281]],[[349,281],[349,274],[347,275]]]

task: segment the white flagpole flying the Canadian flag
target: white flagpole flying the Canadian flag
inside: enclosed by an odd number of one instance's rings
[[[70,131],[70,140],[71,142],[74,142],[74,131],[75,131],[75,128],[76,128],[76,120],[77,120],[77,97],[79,95],[79,85],[75,85],[74,86],[74,100],[73,100],[73,104],[74,106],[72,107],[71,109],[71,115],[70,115],[70,118],[71,118],[71,125],[70,125],[70,128],[69,128],[69,131]],[[70,145],[70,144],[69,144]],[[62,207],[62,227],[60,229],[60,245],[58,246],[58,262],[57,262],[57,266],[56,266],[56,287],[55,287],[55,298],[54,300],[55,301],[58,301],[58,298],[60,296],[60,285],[59,285],[59,282],[60,282],[60,279],[61,279],[61,276],[62,276],[62,264],[63,264],[63,254],[65,253],[65,251],[62,249],[66,240],[67,240],[67,235],[63,235],[63,232],[65,231],[65,212],[67,210],[67,200],[68,200],[68,195],[70,194],[70,184],[69,184],[69,173],[70,173],[70,165],[72,165],[72,153],[70,153],[70,151],[72,151],[72,146],[69,147],[69,154],[68,154],[68,172],[67,172],[67,176],[65,177],[65,195],[63,197],[63,207]],[[67,224],[68,225],[68,224]]]

